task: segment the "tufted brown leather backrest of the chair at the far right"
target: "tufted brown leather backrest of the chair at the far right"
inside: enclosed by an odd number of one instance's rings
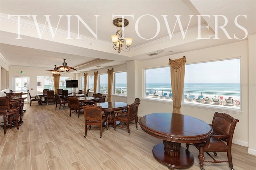
[[[214,134],[227,135],[228,137],[220,139],[228,142],[227,145],[229,146],[232,144],[234,130],[236,127],[236,123],[238,122],[238,119],[234,119],[232,116],[226,113],[215,112],[212,119],[212,129]]]

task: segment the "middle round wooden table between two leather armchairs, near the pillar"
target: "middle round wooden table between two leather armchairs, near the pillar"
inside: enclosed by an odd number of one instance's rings
[[[128,104],[119,101],[106,101],[101,103],[95,103],[96,106],[101,106],[102,111],[105,112],[108,119],[108,126],[114,126],[115,111],[121,111],[128,108]],[[118,125],[120,122],[116,122]]]

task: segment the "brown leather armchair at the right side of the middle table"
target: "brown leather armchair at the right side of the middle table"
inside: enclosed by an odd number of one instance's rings
[[[128,106],[127,112],[115,112],[116,117],[114,118],[114,129],[116,130],[116,121],[123,122],[123,126],[118,126],[121,128],[127,128],[128,133],[130,134],[129,123],[135,121],[136,129],[138,129],[138,107],[140,103],[132,103]]]

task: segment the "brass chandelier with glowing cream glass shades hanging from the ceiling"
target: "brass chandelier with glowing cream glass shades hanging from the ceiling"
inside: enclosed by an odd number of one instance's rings
[[[122,21],[123,20],[123,21]],[[114,26],[121,27],[120,30],[116,32],[115,35],[111,35],[112,43],[114,44],[113,47],[115,50],[118,50],[118,53],[122,51],[122,49],[127,52],[130,50],[130,45],[132,44],[132,38],[125,38],[124,37],[124,30],[122,30],[123,27],[127,26],[129,24],[129,21],[122,18],[116,18],[113,20]],[[126,47],[123,46],[124,40],[126,42]]]

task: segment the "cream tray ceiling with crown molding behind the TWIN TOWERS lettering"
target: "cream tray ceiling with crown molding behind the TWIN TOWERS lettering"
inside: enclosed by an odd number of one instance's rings
[[[256,34],[256,0],[1,0],[0,12],[0,54],[11,66],[52,69],[54,65],[62,65],[65,58],[68,66],[78,71],[90,71],[97,69],[96,66],[111,67],[131,60],[151,59],[240,41],[234,40],[234,35],[244,40],[249,35]],[[20,17],[21,39],[17,39],[17,18],[8,14],[25,15]],[[29,18],[26,15],[29,15]],[[45,15],[50,15],[53,32],[58,27],[54,38],[49,32],[48,24],[42,37],[38,36],[33,18],[35,15],[40,32],[46,22]],[[63,16],[60,18],[59,15]],[[71,15],[70,24],[68,15]],[[112,15],[129,15],[125,17],[129,20],[129,25],[125,27],[125,36],[133,38],[129,52],[121,51],[118,54],[118,51],[113,49],[110,35],[115,34],[119,28],[114,26],[112,21],[120,17]],[[178,24],[172,38],[169,37],[163,16],[167,16],[168,27],[172,32],[176,23],[175,15],[180,15],[184,30],[188,26],[185,38],[182,38]],[[191,20],[190,15],[193,15]],[[198,21],[197,15],[204,16]],[[222,15],[218,16],[218,26],[224,24],[224,18],[227,22],[224,27],[226,34],[218,28],[219,39],[214,39],[214,15]],[[246,15],[246,18],[239,15]],[[234,23],[237,16],[240,27]],[[82,22],[78,22],[78,17],[91,30]],[[208,40],[198,39],[198,25],[201,26],[201,37],[209,38]],[[68,26],[71,39],[67,39]],[[158,29],[160,32],[154,37]],[[245,30],[248,35],[245,35]],[[228,39],[227,34],[231,39]],[[164,52],[147,55],[158,50]]]

